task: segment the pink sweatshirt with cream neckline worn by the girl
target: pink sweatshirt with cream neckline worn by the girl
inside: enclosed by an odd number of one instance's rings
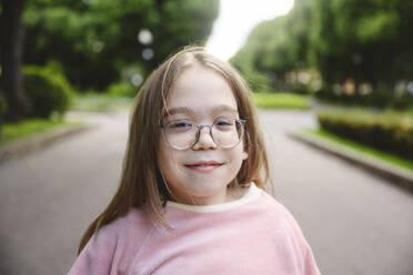
[[[131,210],[89,241],[69,274],[320,274],[291,213],[254,184],[230,203],[169,202],[164,218],[171,231]]]

